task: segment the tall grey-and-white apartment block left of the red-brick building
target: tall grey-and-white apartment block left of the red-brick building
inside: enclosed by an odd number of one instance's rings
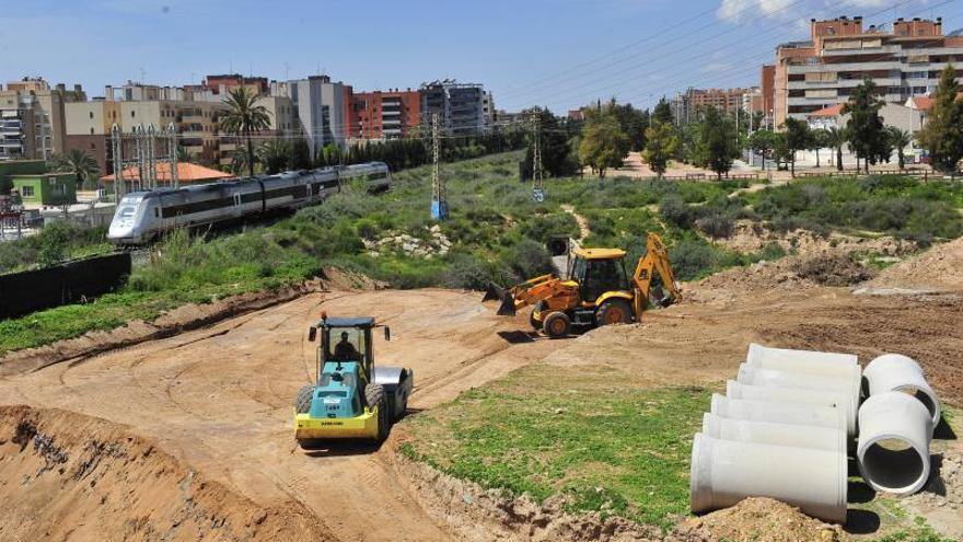
[[[308,141],[311,153],[325,145],[344,147],[349,131],[352,89],[328,76],[272,81],[270,95],[290,99],[293,119]]]

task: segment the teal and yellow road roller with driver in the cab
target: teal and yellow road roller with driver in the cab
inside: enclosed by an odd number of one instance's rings
[[[309,328],[321,335],[315,383],[298,393],[294,438],[302,447],[324,439],[364,438],[382,441],[404,416],[414,387],[410,369],[374,367],[374,319],[327,318]],[[391,330],[384,327],[385,341]]]

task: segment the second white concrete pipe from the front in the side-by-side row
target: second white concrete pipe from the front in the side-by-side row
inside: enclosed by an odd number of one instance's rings
[[[703,414],[703,434],[715,439],[757,445],[793,446],[846,453],[846,431],[832,427],[775,424],[729,419]]]

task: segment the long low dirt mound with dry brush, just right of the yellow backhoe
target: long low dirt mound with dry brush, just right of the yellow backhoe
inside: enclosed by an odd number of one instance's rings
[[[687,301],[726,303],[761,290],[849,286],[872,275],[872,269],[844,252],[822,252],[727,269],[688,285],[685,293]]]

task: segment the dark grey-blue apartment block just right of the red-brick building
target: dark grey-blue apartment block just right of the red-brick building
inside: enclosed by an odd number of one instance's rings
[[[419,93],[426,123],[438,114],[443,129],[462,136],[480,134],[491,125],[495,104],[480,84],[445,79],[422,83]]]

